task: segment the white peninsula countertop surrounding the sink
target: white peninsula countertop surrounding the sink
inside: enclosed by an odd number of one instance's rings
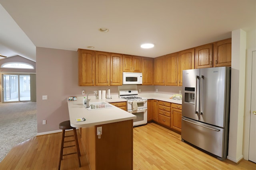
[[[93,99],[90,102],[102,102],[103,100]],[[104,100],[104,102],[121,102],[121,100]],[[125,100],[126,101],[126,100]],[[136,116],[116,106],[107,109],[88,110],[82,104],[82,98],[77,101],[68,102],[70,125],[72,127],[90,127],[119,121],[136,119]],[[76,122],[77,118],[84,117],[86,120]]]

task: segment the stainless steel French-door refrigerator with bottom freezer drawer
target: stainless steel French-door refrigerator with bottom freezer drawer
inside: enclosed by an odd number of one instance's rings
[[[182,74],[182,141],[220,160],[228,150],[230,76],[230,67]]]

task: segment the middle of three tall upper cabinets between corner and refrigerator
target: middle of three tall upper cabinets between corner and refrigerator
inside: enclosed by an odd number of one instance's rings
[[[178,53],[165,56],[165,85],[178,86]]]

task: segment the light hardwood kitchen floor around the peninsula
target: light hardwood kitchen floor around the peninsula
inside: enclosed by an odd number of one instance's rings
[[[68,131],[67,134],[71,134]],[[81,164],[75,154],[64,156],[62,170],[89,170],[82,148]],[[0,170],[55,170],[58,169],[61,133],[34,137],[14,147],[0,162]],[[72,149],[66,150],[70,152]],[[134,127],[134,170],[256,170],[256,164],[242,160],[235,164],[220,161],[181,141],[179,134],[155,123]]]

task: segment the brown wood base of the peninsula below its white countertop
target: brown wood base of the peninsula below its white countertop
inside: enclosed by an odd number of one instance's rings
[[[133,120],[82,127],[80,133],[91,170],[132,170]]]

